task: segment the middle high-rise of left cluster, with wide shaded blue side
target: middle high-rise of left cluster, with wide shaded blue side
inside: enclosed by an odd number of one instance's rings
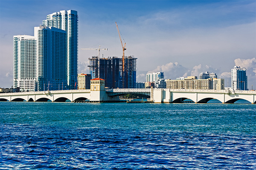
[[[34,28],[38,91],[67,89],[67,34],[53,27]]]

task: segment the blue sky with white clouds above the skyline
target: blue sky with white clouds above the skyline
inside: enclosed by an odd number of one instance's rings
[[[165,79],[214,72],[231,87],[231,69],[247,68],[248,89],[256,89],[255,0],[0,0],[0,87],[11,88],[13,36],[33,35],[48,14],[79,15],[79,73],[88,58],[137,58],[137,82],[163,71]],[[229,83],[227,84],[227,82]]]

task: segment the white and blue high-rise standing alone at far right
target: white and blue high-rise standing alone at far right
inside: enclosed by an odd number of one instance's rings
[[[248,90],[246,68],[234,66],[231,69],[231,88],[233,90]]]

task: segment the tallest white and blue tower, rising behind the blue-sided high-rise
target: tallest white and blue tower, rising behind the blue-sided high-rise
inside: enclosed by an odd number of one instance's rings
[[[78,73],[78,15],[77,11],[59,11],[47,15],[44,26],[67,31],[67,85],[74,89]]]

